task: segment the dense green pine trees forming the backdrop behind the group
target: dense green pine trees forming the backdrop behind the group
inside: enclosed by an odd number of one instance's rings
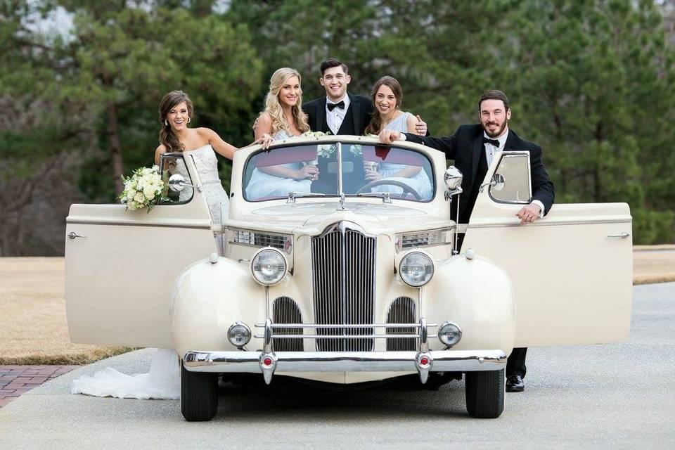
[[[329,56],[354,93],[397,77],[435,135],[502,89],[557,203],[628,202],[636,243],[673,243],[673,23],[634,0],[0,0],[0,255],[62,254],[70,203],[111,202],[152,164],[165,92],[244,146],[271,73],[300,70],[309,101]]]

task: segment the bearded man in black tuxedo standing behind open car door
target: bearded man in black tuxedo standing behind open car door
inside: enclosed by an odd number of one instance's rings
[[[452,136],[435,138],[416,136],[409,133],[384,130],[380,141],[391,144],[397,139],[422,143],[445,153],[446,158],[454,160],[455,166],[464,175],[463,192],[460,194],[458,223],[467,224],[476,203],[480,184],[494,153],[498,150],[525,150],[530,157],[530,176],[532,179],[532,200],[516,214],[521,224],[534,222],[544,217],[553,205],[553,183],[541,162],[541,147],[521,139],[508,128],[511,110],[508,98],[502,91],[485,92],[478,101],[480,123],[461,125]],[[453,208],[454,210],[454,208]],[[525,389],[525,354],[527,348],[516,348],[508,357],[506,364],[506,390],[521,392]]]

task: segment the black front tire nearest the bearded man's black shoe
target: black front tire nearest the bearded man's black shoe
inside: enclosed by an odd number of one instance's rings
[[[480,419],[494,419],[504,411],[504,369],[465,373],[466,409]]]

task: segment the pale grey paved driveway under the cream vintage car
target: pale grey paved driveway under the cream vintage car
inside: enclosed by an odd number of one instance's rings
[[[178,401],[70,394],[112,366],[148,371],[149,350],[56,378],[0,409],[0,448],[675,448],[675,283],[634,288],[631,342],[532,349],[525,392],[496,420],[465,412],[463,383],[438,392],[221,390],[217,417],[186,423]]]

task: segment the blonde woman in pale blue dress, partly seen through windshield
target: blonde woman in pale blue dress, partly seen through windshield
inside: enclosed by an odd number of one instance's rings
[[[253,131],[255,139],[269,134],[275,140],[300,136],[309,131],[307,114],[302,111],[302,77],[297,70],[281,68],[269,79],[265,110],[260,113]],[[251,200],[270,196],[285,196],[289,192],[309,192],[311,181],[318,179],[319,169],[300,162],[257,167],[246,186]]]

